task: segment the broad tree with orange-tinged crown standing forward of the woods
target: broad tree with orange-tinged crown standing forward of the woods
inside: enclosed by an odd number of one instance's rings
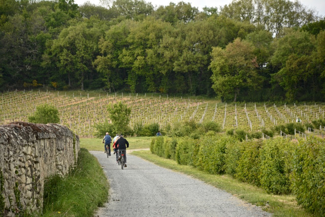
[[[212,59],[209,68],[213,72],[212,88],[221,98],[237,96],[244,88],[259,89],[262,77],[256,72],[258,67],[254,46],[247,42],[235,39],[225,49],[215,47],[212,50]]]

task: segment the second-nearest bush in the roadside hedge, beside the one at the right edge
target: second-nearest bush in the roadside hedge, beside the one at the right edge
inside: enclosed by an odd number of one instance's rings
[[[261,186],[268,192],[273,194],[289,193],[289,177],[286,171],[286,159],[290,153],[289,140],[277,138],[273,140],[265,140],[260,149],[259,156],[261,158],[261,168],[259,180]]]

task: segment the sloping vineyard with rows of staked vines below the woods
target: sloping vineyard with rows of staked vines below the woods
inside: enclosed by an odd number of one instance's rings
[[[62,91],[4,92],[0,101],[0,123],[27,121],[36,106],[54,105],[60,124],[81,137],[91,137],[94,124],[108,119],[107,105],[122,101],[132,109],[131,127],[157,122],[161,128],[182,120],[215,121],[223,131],[242,129],[254,132],[300,118],[303,123],[323,118],[325,104],[220,103],[212,99],[169,97],[157,94],[91,93]],[[317,132],[317,131],[316,131]]]

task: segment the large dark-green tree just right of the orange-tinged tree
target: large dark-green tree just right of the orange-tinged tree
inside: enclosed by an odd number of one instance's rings
[[[315,96],[306,95],[321,89],[320,74],[313,56],[315,37],[307,32],[287,29],[285,36],[274,42],[274,49],[271,63],[278,71],[272,74],[272,79],[283,87],[287,99],[316,100]]]

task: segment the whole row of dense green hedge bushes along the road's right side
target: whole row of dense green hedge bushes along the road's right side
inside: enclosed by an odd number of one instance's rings
[[[230,174],[272,194],[294,193],[298,204],[321,216],[325,213],[324,147],[324,140],[316,137],[239,142],[218,135],[198,140],[157,137],[150,150],[211,174]]]

